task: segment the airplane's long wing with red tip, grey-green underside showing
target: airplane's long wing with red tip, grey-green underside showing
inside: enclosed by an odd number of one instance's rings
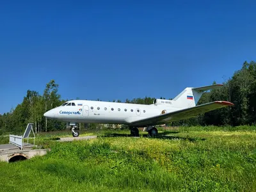
[[[199,115],[200,113],[205,113],[208,111],[212,111],[214,109],[224,108],[227,106],[234,106],[234,104],[227,101],[214,101],[214,102],[209,102],[207,104],[195,106],[193,108],[181,109],[178,111],[165,113],[163,115],[152,116],[150,118],[145,118],[143,120],[134,121],[134,122],[131,122],[131,125],[147,126],[147,125],[165,124],[166,122],[174,122],[177,120],[191,118],[193,116]]]

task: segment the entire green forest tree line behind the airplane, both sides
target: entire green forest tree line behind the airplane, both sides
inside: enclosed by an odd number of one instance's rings
[[[216,82],[213,82],[216,84]],[[28,90],[21,104],[8,113],[0,115],[1,132],[20,132],[29,122],[33,122],[37,132],[66,129],[66,124],[44,118],[45,111],[60,106],[67,100],[61,99],[59,85],[52,79],[46,84],[44,94]],[[126,103],[152,104],[154,97],[126,99]],[[165,99],[165,98],[161,98]],[[100,99],[96,99],[100,100]],[[171,100],[171,99],[170,99]],[[172,122],[170,125],[255,125],[256,122],[256,63],[244,61],[240,70],[223,82],[223,87],[205,92],[198,104],[215,100],[227,100],[234,106],[210,111],[202,115]],[[113,100],[113,102],[122,102]],[[94,124],[95,127],[96,125]]]

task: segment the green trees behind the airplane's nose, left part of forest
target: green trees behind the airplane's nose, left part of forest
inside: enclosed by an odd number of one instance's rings
[[[65,128],[65,124],[44,118],[45,111],[60,106],[65,100],[60,99],[59,85],[54,80],[46,84],[44,94],[28,90],[21,104],[10,112],[0,115],[1,132],[20,132],[30,122],[36,132],[56,131]]]

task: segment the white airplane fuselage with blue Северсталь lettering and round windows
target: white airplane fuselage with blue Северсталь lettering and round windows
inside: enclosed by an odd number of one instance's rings
[[[169,113],[182,109],[181,106],[176,106],[175,101],[172,100],[168,104],[159,105],[94,100],[70,100],[68,102],[74,102],[76,106],[60,106],[47,111],[44,116],[63,122],[129,125],[137,120],[161,115],[163,111]],[[78,104],[81,106],[77,106]]]

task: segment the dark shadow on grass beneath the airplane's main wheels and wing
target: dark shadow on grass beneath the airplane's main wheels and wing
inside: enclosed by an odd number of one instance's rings
[[[159,132],[157,136],[150,136],[148,134],[140,134],[140,136],[136,138],[152,138],[152,139],[162,139],[162,140],[188,140],[188,141],[205,141],[205,138],[191,138],[189,136],[182,137],[182,136],[170,136],[167,134],[177,134],[178,131],[166,131],[166,132]],[[99,137],[128,137],[128,138],[134,138],[131,134],[119,134],[119,133],[106,133],[104,136]]]

